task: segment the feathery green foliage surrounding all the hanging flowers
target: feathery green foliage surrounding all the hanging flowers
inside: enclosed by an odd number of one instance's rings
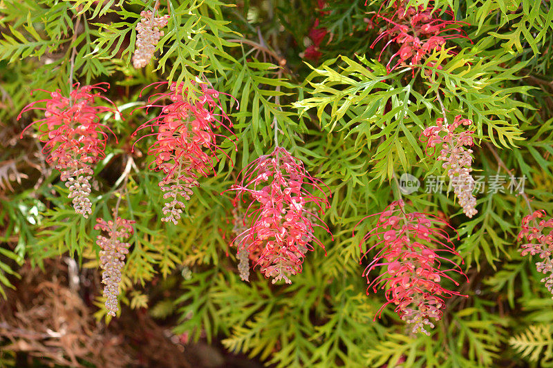
[[[507,183],[496,192],[486,187],[476,194],[478,215],[465,217],[447,184],[440,193],[426,190],[429,178],[444,169],[438,153],[420,141],[424,128],[442,116],[440,96],[448,119],[462,115],[474,122],[473,174],[525,177],[532,209],[553,215],[549,1],[407,1],[449,6],[469,23],[463,30],[471,40],[448,40],[415,68],[390,73],[385,65],[397,49],[381,55],[386,41],[370,47],[384,26],[372,19],[383,3],[366,6],[364,0],[326,1],[323,10],[315,0],[160,1],[158,12],[169,14],[169,24],[151,64],[136,70],[135,26],[154,3],[0,1],[0,140],[6,142],[0,163],[13,160],[28,176],[21,183],[6,176],[13,191],[0,186],[1,295],[16,284],[22,262],[40,267],[46,258],[66,255],[81,269],[97,267],[95,218],[111,217],[121,196],[119,215],[136,222],[121,302],[177,321],[175,333],[192,340],[221,340],[231,352],[276,367],[550,364],[553,301],[537,260],[522,258],[516,242],[527,202],[509,193]],[[390,2],[383,11],[386,6]],[[316,19],[327,33],[320,58],[308,60]],[[95,167],[89,219],[74,215],[59,173],[37,143],[39,133],[17,139],[24,126],[41,119],[29,113],[17,120],[26,104],[46,96],[31,90],[67,94],[70,79],[108,81],[106,97],[121,112],[102,117],[119,141],[109,139]],[[149,170],[153,157],[147,152],[153,137],[131,151],[131,134],[159,109],[133,109],[158,93],[152,83],[176,81],[194,90],[198,79],[221,92],[232,132],[218,130],[227,137],[218,137],[216,175],[200,179],[173,226],[160,222],[162,174]],[[242,282],[236,249],[229,246],[232,203],[225,191],[242,168],[274,149],[275,129],[278,144],[332,193],[323,220],[333,238],[317,231],[325,249],[308,254],[290,286],[270,284],[256,270],[250,283]],[[123,180],[129,158],[133,166]],[[352,237],[359,220],[397,200],[393,177],[401,173],[422,183],[403,196],[409,207],[444,217],[457,229],[458,239],[451,235],[462,260],[456,262],[464,262],[470,280],[459,287],[447,281],[468,298],[447,300],[429,337],[412,336],[391,306],[375,319],[384,291],[366,295],[361,275],[367,263],[360,262],[359,249],[370,224]]]

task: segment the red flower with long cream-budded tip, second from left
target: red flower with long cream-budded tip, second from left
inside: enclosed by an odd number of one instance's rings
[[[158,82],[155,85],[158,88],[169,84]],[[142,124],[133,133],[135,136],[139,130],[149,128],[151,133],[140,139],[148,136],[156,137],[156,142],[149,147],[148,151],[149,155],[156,158],[150,168],[165,173],[165,177],[159,184],[161,190],[165,192],[163,198],[166,200],[163,207],[165,217],[161,220],[171,221],[174,224],[177,224],[180,213],[185,208],[181,198],[190,199],[192,188],[199,185],[196,180],[198,176],[215,173],[216,151],[221,151],[216,145],[216,137],[223,137],[223,135],[215,134],[214,128],[223,126],[228,130],[228,127],[223,124],[224,120],[232,126],[218,100],[218,91],[204,83],[199,84],[198,87],[199,96],[191,96],[190,91],[182,90],[182,85],[177,86],[173,83],[166,93],[156,93],[149,97],[149,104],[142,108],[148,110],[152,107],[161,107],[161,113],[158,117]],[[194,97],[193,100],[192,97]],[[164,99],[169,99],[171,103],[159,105]]]

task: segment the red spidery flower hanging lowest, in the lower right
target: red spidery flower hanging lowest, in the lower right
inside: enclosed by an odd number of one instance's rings
[[[446,274],[448,271],[467,277],[457,264],[440,255],[447,252],[458,256],[449,235],[441,229],[443,226],[451,226],[427,213],[406,213],[402,200],[392,202],[376,215],[379,215],[376,226],[359,244],[362,248],[367,240],[375,240],[376,243],[365,255],[375,248],[380,249],[363,273],[368,283],[367,295],[371,289],[375,293],[377,289],[386,289],[388,302],[379,309],[377,316],[380,316],[386,305],[393,303],[402,320],[412,324],[413,333],[429,335],[426,328],[434,327],[430,320],[438,321],[442,318],[441,309],[445,307],[442,298],[461,296],[456,291],[444,289],[440,281],[447,278],[458,285]],[[442,261],[453,264],[453,267],[442,270]],[[386,271],[370,282],[369,273],[381,266],[386,267]]]

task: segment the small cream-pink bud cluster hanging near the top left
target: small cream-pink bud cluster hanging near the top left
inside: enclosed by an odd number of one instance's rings
[[[156,45],[163,37],[163,31],[160,28],[167,26],[169,15],[163,17],[153,17],[150,10],[140,13],[142,19],[136,26],[136,51],[133,56],[133,66],[135,68],[144,68],[153,57],[156,51]]]

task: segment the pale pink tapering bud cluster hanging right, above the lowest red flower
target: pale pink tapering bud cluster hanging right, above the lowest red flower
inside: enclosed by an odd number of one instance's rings
[[[444,119],[436,119],[436,125],[424,129],[422,135],[426,137],[423,142],[427,142],[427,148],[442,144],[442,150],[438,160],[444,161],[442,167],[447,170],[453,192],[458,198],[459,205],[467,217],[472,217],[478,213],[476,210],[476,197],[472,194],[474,190],[474,178],[471,175],[472,171],[472,156],[473,152],[470,148],[465,149],[465,146],[473,146],[474,130],[463,130],[460,133],[454,133],[458,126],[469,126],[472,120],[462,119],[461,115],[457,115],[453,120],[453,124],[444,124]],[[442,137],[440,133],[445,133]]]

